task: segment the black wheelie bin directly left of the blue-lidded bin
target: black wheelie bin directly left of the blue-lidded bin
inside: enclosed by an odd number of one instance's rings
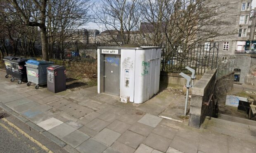
[[[20,57],[14,57],[12,60],[10,60],[10,63],[12,65],[12,78],[11,81],[13,82],[15,79],[18,79],[18,84],[21,84],[22,81],[27,81],[27,73],[26,73],[26,67],[25,62],[28,59],[26,58],[20,58]]]

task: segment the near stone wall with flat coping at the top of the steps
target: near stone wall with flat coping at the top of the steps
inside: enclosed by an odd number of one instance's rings
[[[206,70],[202,78],[191,88],[189,125],[192,127],[199,128],[205,117],[212,113],[211,106],[203,105],[203,102],[208,102],[214,93],[216,72],[216,69]]]

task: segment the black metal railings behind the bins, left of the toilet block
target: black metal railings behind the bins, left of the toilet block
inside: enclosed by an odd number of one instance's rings
[[[98,46],[117,46],[107,43],[81,43],[81,42],[56,42],[48,43],[48,51],[51,59],[71,61],[95,61],[97,59]],[[3,46],[0,46],[3,47]],[[40,43],[25,44],[19,43],[14,49],[10,44],[5,46],[8,54],[15,56],[42,57],[42,45]]]

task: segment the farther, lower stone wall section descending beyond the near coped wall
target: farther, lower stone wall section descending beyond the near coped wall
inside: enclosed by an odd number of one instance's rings
[[[233,83],[234,83],[234,74],[235,72],[231,72],[225,76],[222,76],[221,78],[218,78],[216,81],[216,90],[215,95],[216,97],[219,97],[221,95],[224,95],[228,91],[232,90]]]

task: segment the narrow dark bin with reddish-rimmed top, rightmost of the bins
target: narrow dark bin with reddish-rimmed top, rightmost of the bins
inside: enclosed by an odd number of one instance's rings
[[[47,67],[47,89],[53,93],[66,90],[66,68],[64,66]]]

